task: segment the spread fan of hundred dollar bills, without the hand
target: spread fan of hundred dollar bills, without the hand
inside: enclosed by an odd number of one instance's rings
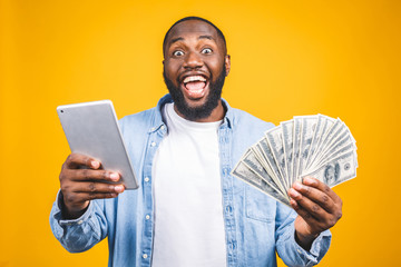
[[[232,175],[290,206],[287,190],[312,176],[329,187],[356,177],[355,139],[340,119],[296,116],[270,129],[243,155]]]

